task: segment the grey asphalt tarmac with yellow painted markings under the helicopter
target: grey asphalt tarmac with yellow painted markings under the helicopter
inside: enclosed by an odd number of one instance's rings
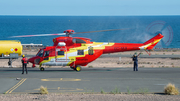
[[[168,83],[180,88],[180,68],[0,68],[0,93],[38,93],[40,86],[49,92],[149,92],[162,93]]]

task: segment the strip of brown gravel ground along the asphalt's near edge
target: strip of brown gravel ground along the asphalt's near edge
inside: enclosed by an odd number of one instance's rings
[[[0,101],[180,101],[180,96],[158,94],[2,94]]]

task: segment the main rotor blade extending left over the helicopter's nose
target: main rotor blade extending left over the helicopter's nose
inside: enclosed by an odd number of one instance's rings
[[[66,35],[66,33],[22,35],[22,36],[11,36],[10,38],[17,38],[17,37],[35,37],[35,36],[52,36],[52,35]]]

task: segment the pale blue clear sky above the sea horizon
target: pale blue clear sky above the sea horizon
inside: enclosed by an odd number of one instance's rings
[[[180,0],[0,0],[0,15],[180,15]]]

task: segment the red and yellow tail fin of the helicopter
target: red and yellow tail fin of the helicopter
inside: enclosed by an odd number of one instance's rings
[[[144,45],[140,47],[140,49],[151,50],[153,47],[163,38],[162,34],[158,34],[155,37],[151,38],[150,40],[143,43]]]

